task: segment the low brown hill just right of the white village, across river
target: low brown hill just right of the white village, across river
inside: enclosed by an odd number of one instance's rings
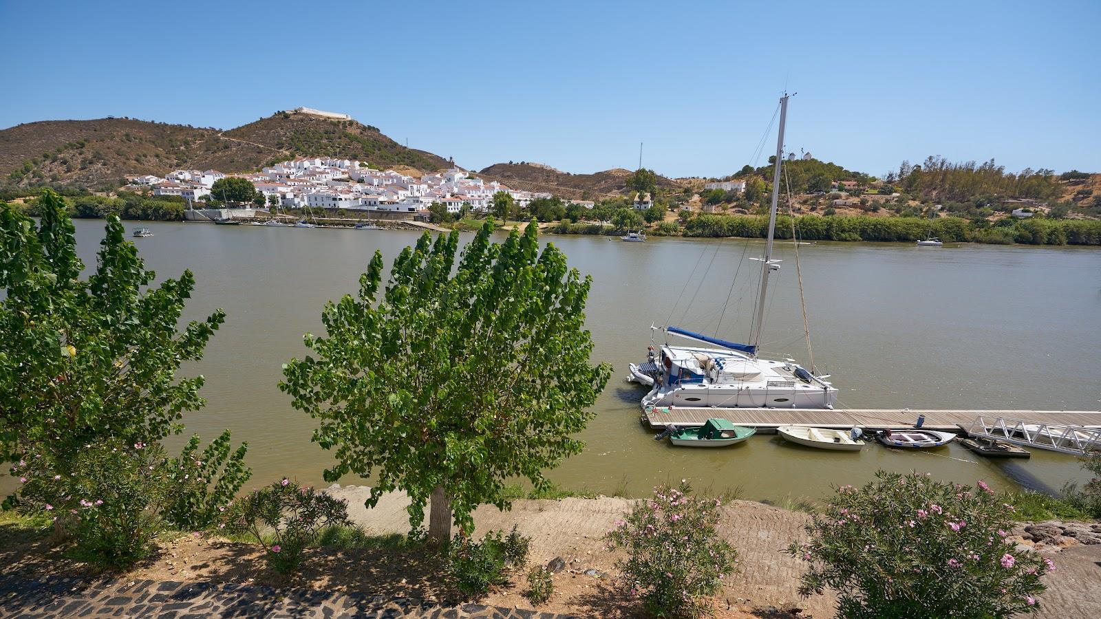
[[[515,189],[528,192],[554,192],[563,197],[599,199],[619,195],[626,187],[626,178],[632,172],[614,167],[592,174],[570,174],[542,163],[495,163],[479,172],[479,175],[497,180]],[[657,177],[657,186],[679,188],[676,181]]]

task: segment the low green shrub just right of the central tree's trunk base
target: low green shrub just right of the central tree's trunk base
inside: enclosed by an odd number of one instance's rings
[[[481,596],[490,587],[509,583],[508,568],[522,569],[527,564],[531,539],[516,528],[505,535],[501,531],[487,533],[480,542],[460,537],[447,553],[447,571],[459,591]]]

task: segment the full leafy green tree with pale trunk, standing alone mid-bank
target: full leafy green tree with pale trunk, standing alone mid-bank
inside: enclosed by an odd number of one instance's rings
[[[581,450],[573,435],[611,372],[589,365],[591,279],[554,245],[541,253],[534,221],[501,245],[492,231],[489,220],[457,269],[458,232],[425,234],[381,298],[377,251],[358,296],[326,305],[327,336],[306,335],[314,355],[287,363],[280,383],[320,420],[314,441],[336,450],[326,480],[373,476],[368,506],[404,490],[413,526],[430,497],[437,540],[453,520],[468,535],[478,504],[506,509],[506,480],[549,487],[543,470]]]

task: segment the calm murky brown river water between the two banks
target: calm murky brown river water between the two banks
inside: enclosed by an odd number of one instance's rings
[[[77,220],[78,249],[95,263],[101,220]],[[281,363],[321,333],[321,306],[353,292],[375,249],[389,264],[418,234],[143,222],[133,239],[159,279],[194,271],[186,317],[222,307],[226,324],[206,357],[185,367],[207,379],[206,409],[187,431],[222,428],[250,444],[251,487],[282,476],[323,484],[331,461],[310,443],[315,425],[279,391]],[[138,224],[127,222],[129,235]],[[465,234],[464,239],[472,235]],[[744,341],[762,241],[545,236],[573,267],[592,275],[587,318],[595,361],[614,373],[580,434],[587,446],[549,473],[558,485],[642,496],[689,479],[712,491],[782,501],[822,498],[831,485],[861,484],[876,469],[919,470],[998,488],[1057,490],[1086,479],[1070,456],[1034,450],[1029,460],[988,460],[951,444],[922,453],[877,445],[833,453],[755,436],[728,449],[655,443],[639,424],[644,390],[624,382],[645,357],[652,324],[675,324]],[[763,354],[809,367],[791,241],[771,279]],[[1101,250],[1073,247],[822,242],[799,247],[814,361],[831,374],[848,408],[1101,410]],[[733,282],[733,283],[732,283]],[[182,439],[175,439],[182,443]],[[172,446],[174,446],[174,444]],[[11,478],[0,490],[11,488]],[[362,484],[356,478],[342,485]]]

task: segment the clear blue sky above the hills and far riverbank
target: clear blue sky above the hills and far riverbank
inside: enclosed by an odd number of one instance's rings
[[[0,0],[0,127],[307,106],[467,167],[634,169],[641,141],[646,167],[712,176],[754,163],[786,86],[788,148],[849,169],[1097,172],[1099,24],[1098,0]]]

